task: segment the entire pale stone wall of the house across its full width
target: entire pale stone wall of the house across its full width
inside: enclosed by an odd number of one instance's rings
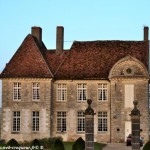
[[[13,101],[13,82],[21,82],[22,99]],[[41,99],[32,101],[32,83],[40,83]],[[67,101],[57,101],[57,84],[67,85]],[[85,132],[77,131],[77,112],[85,111],[86,101],[77,101],[77,84],[87,84],[87,98],[92,99],[94,115],[94,141],[124,142],[125,121],[130,121],[132,108],[125,108],[125,85],[134,85],[134,98],[138,100],[141,111],[141,135],[148,140],[148,80],[145,78],[114,78],[108,80],[57,80],[49,79],[5,79],[2,95],[2,139],[32,140],[34,138],[63,137],[64,141],[85,138]],[[97,98],[98,84],[108,84],[108,100]],[[21,112],[21,131],[12,132],[12,112]],[[32,111],[40,112],[40,131],[32,132]],[[67,112],[67,131],[57,132],[57,112]],[[108,113],[108,131],[98,131],[98,112]]]

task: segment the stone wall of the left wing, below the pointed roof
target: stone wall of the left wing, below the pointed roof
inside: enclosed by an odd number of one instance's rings
[[[13,83],[21,83],[21,101],[13,101]],[[40,100],[32,100],[32,83],[40,83]],[[50,137],[51,81],[47,79],[6,79],[2,82],[2,139],[30,141]],[[12,132],[13,111],[20,111],[21,130]],[[32,131],[32,111],[39,111],[39,132]]]

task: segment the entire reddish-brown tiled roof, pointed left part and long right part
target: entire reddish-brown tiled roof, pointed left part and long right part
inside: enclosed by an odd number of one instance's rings
[[[113,65],[132,56],[148,68],[146,41],[75,41],[57,55],[28,35],[1,74],[1,78],[108,79]]]

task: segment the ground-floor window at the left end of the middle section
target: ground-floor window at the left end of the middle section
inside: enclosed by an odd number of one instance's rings
[[[66,131],[66,112],[57,112],[57,131]]]

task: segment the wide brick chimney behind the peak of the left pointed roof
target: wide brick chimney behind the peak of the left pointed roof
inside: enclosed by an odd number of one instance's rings
[[[41,27],[32,27],[31,34],[42,44],[42,28]]]

